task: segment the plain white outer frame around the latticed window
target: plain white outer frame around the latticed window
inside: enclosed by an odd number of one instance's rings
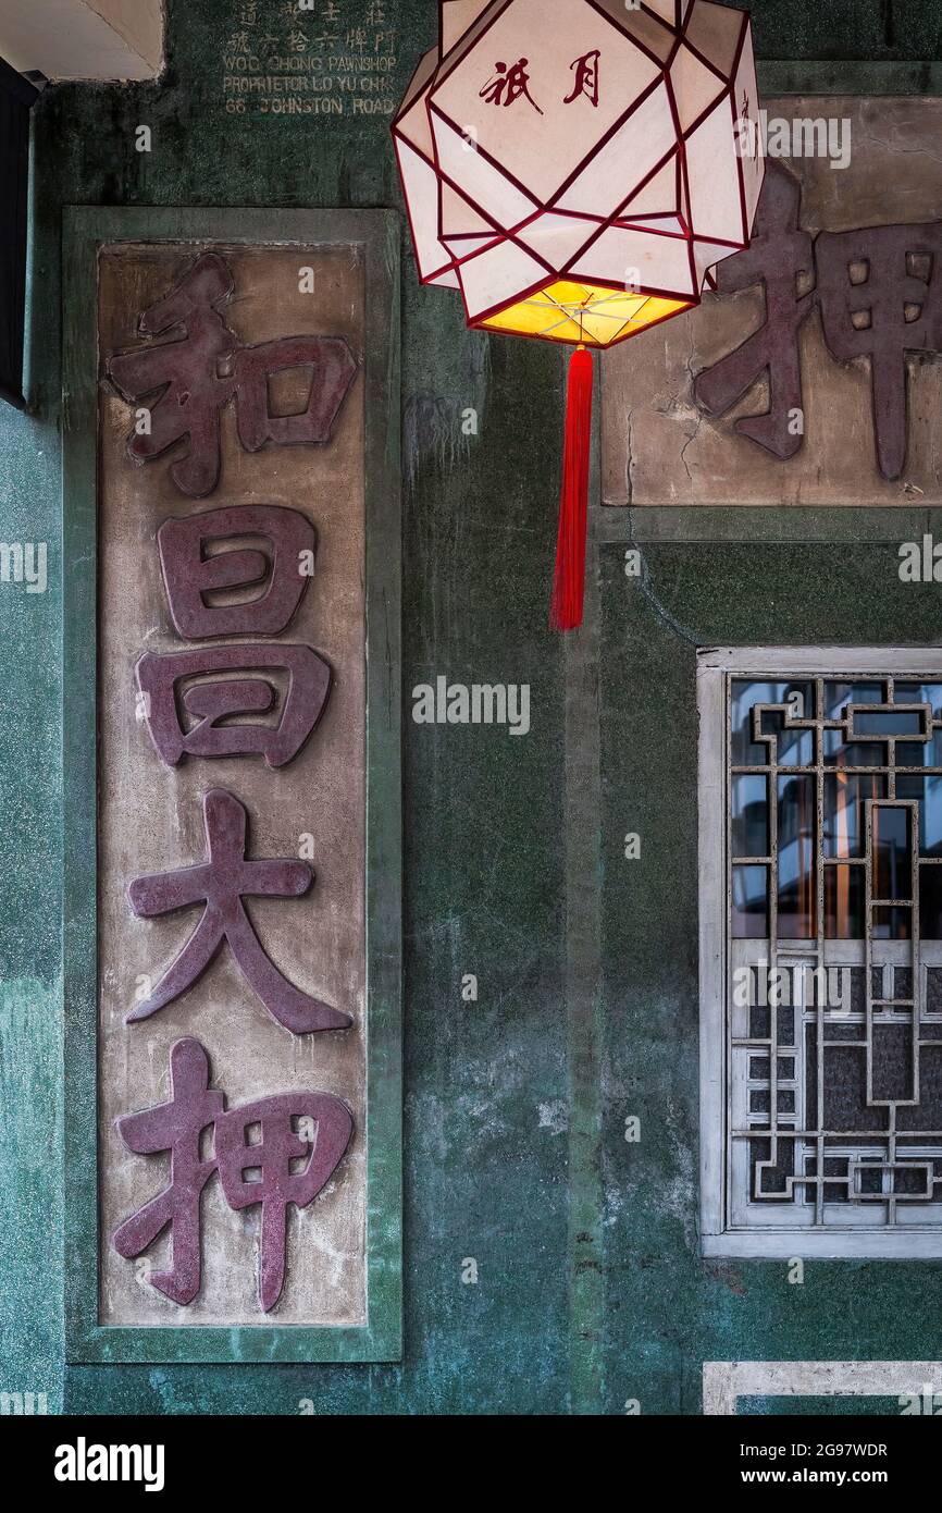
[[[942,648],[748,646],[697,654],[700,849],[700,1244],[705,1256],[919,1260],[942,1257],[942,1224],[925,1229],[736,1229],[729,1223],[727,1118],[727,705],[733,676],[892,675],[942,682]]]

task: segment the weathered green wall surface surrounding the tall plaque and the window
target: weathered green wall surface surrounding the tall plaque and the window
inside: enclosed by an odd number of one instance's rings
[[[562,357],[466,333],[457,297],[419,290],[407,257],[404,688],[437,673],[529,682],[534,726],[526,740],[405,726],[405,1360],[62,1368],[60,210],[399,204],[384,118],[225,113],[233,9],[168,0],[159,85],[57,86],[35,115],[32,412],[0,412],[0,537],[48,542],[50,587],[0,589],[0,1389],[70,1413],[293,1413],[301,1398],[318,1412],[617,1413],[638,1398],[696,1413],[705,1356],[940,1357],[937,1266],[809,1265],[788,1288],[782,1266],[708,1265],[696,1248],[693,643],[931,643],[931,592],[895,586],[891,548],[798,545],[820,520],[795,520],[788,552],[758,561],[735,545],[652,546],[646,590],[609,545],[587,631],[564,646],[546,629]],[[880,91],[888,68],[942,56],[937,3],[753,12],[765,59],[829,61],[832,83],[847,59]],[[399,89],[437,6],[387,0],[387,14]],[[139,124],[150,154],[135,151]],[[627,542],[634,523],[612,530]],[[771,517],[755,528],[774,540]],[[761,567],[788,573],[774,610],[756,599]],[[634,870],[626,829],[646,835]],[[479,977],[473,1008],[463,973]],[[624,1144],[627,1112],[643,1115],[640,1147]],[[478,1286],[461,1286],[464,1257]]]

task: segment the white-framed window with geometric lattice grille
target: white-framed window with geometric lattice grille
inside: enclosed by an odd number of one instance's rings
[[[706,1254],[942,1256],[942,651],[700,654]]]

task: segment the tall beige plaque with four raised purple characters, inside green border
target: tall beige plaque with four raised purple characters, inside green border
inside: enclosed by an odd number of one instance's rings
[[[367,1322],[361,250],[98,253],[98,1322]]]

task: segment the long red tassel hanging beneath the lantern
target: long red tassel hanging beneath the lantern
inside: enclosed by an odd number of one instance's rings
[[[588,458],[593,428],[593,359],[579,346],[569,363],[566,393],[566,448],[556,576],[549,623],[555,631],[582,625],[585,598],[585,530],[588,520]]]

